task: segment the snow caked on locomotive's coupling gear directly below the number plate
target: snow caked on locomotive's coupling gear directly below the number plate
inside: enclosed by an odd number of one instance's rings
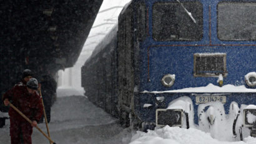
[[[243,109],[244,105],[241,105]],[[242,126],[242,113],[239,113],[239,106],[236,102],[230,104],[229,114],[225,114],[224,105],[221,102],[210,102],[200,104],[198,107],[199,115],[199,130],[210,133],[212,138],[222,141],[239,141],[240,137],[234,137],[232,133],[233,123],[237,115],[235,132],[239,132],[239,127]],[[247,129],[243,129],[243,137],[249,136]],[[238,134],[237,134],[238,135]]]

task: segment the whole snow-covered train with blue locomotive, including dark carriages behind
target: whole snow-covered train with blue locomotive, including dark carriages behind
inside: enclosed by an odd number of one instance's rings
[[[131,1],[82,67],[82,87],[126,127],[255,136],[255,11],[255,0]]]

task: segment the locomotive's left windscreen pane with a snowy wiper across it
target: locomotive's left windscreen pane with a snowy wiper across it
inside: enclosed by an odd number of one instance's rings
[[[195,1],[156,2],[152,8],[153,38],[155,41],[199,41],[203,36],[202,10],[202,4]]]

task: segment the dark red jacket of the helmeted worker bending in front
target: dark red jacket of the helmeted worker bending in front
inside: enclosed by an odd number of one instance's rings
[[[35,92],[29,94],[27,87],[24,85],[15,85],[11,90],[8,90],[2,100],[8,98],[9,101],[31,121],[39,122],[43,113],[42,98]],[[26,120],[19,115],[13,108],[9,109],[9,116],[14,120],[25,122]]]

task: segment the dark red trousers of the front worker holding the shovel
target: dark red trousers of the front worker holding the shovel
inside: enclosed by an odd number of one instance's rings
[[[29,122],[21,122],[10,117],[11,144],[31,144],[32,126]]]

